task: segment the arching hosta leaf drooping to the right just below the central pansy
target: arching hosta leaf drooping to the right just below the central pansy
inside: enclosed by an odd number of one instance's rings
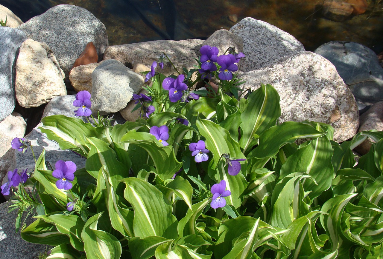
[[[180,170],[181,162],[175,158],[172,146],[163,146],[152,134],[131,130],[126,133],[121,142],[136,144],[145,149],[151,156],[157,175],[162,180],[172,178],[175,172]]]

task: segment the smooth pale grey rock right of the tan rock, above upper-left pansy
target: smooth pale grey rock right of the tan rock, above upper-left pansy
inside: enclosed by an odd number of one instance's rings
[[[144,79],[117,60],[105,60],[92,73],[93,113],[101,115],[122,110],[133,94],[144,85]]]

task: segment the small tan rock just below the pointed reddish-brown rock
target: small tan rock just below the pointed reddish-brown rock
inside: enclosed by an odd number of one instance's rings
[[[77,91],[86,90],[88,92],[92,92],[92,72],[97,68],[97,66],[101,65],[103,61],[100,63],[90,63],[87,65],[79,65],[70,71],[69,80],[72,84],[73,88]]]

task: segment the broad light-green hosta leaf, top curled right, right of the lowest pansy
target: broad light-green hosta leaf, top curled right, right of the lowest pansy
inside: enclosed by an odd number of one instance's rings
[[[308,175],[285,176],[274,188],[272,195],[273,212],[271,225],[287,228],[294,220],[308,214],[309,206],[303,201],[302,180]]]

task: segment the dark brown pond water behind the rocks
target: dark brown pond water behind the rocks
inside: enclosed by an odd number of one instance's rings
[[[106,26],[109,45],[159,39],[206,39],[245,17],[290,33],[313,51],[331,40],[354,41],[383,51],[383,0],[367,0],[367,11],[344,22],[322,16],[323,0],[0,0],[22,21],[59,4],[86,8]]]

